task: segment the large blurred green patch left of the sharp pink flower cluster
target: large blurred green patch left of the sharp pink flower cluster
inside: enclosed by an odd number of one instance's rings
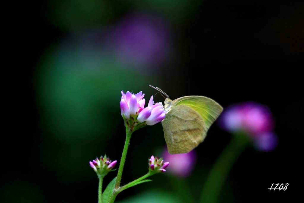
[[[88,161],[96,156],[120,158],[113,154],[118,153],[117,136],[122,142],[125,137],[121,91],[137,93],[157,83],[145,67],[139,68],[121,65],[109,52],[71,44],[45,55],[36,82],[45,134],[42,156],[48,160],[43,164],[48,170],[77,182],[94,174]],[[75,164],[77,170],[71,170]]]

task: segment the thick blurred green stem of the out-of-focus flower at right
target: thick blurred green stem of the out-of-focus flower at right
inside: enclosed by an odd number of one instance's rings
[[[233,135],[232,140],[223,150],[213,165],[203,187],[201,203],[216,203],[221,188],[230,173],[233,164],[247,147],[249,140],[244,134]]]

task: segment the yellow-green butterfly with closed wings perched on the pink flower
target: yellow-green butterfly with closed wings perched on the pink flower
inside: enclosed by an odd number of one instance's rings
[[[183,96],[171,100],[158,87],[152,87],[167,98],[164,101],[166,117],[161,124],[170,154],[188,153],[206,138],[211,124],[223,107],[206,96]]]

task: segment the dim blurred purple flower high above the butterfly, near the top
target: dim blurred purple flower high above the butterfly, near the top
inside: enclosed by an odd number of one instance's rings
[[[127,16],[110,33],[110,41],[122,61],[135,65],[155,64],[168,55],[167,27],[155,16]]]

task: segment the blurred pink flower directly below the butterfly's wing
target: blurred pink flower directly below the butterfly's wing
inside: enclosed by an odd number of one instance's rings
[[[169,154],[166,148],[162,154],[164,160],[170,163],[168,173],[172,173],[178,177],[188,177],[192,174],[197,155],[194,150],[185,154]]]

